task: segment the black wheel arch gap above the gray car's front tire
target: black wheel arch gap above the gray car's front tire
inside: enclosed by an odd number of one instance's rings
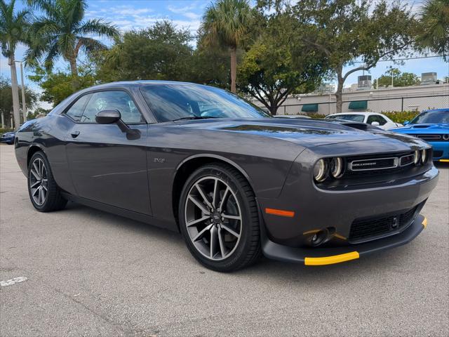
[[[232,166],[234,169],[239,171],[243,177],[246,178],[248,183],[250,184],[250,187],[254,190],[253,183],[248,176],[248,173],[239,166],[239,164],[236,164],[234,161],[219,156],[217,154],[195,154],[194,156],[188,157],[181,161],[181,163],[177,166],[175,171],[175,176],[173,178],[173,190],[172,190],[172,206],[173,206],[173,214],[175,215],[176,224],[179,230],[179,219],[177,218],[178,213],[178,207],[180,204],[180,196],[182,192],[182,187],[184,187],[184,182],[189,178],[189,176],[196,170],[199,169],[199,167],[207,165],[207,164],[213,164],[213,163],[222,163],[227,164],[229,166]],[[257,197],[256,197],[257,202]],[[257,203],[258,206],[258,203]]]

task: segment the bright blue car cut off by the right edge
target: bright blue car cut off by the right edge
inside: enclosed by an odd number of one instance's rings
[[[449,162],[449,108],[423,111],[404,124],[390,131],[425,140],[434,149],[434,161]]]

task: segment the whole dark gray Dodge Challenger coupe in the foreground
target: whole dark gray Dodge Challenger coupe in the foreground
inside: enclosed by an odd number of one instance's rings
[[[15,136],[37,211],[74,201],[181,232],[222,272],[262,254],[328,265],[410,242],[438,180],[431,152],[368,124],[275,119],[170,81],[87,88]]]

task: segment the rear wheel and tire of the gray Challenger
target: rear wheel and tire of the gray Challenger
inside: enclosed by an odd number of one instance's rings
[[[67,204],[41,151],[34,153],[29,161],[28,193],[34,208],[40,212],[59,211]]]

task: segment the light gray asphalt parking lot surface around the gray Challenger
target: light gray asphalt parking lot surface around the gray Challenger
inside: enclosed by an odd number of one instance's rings
[[[406,246],[220,274],[179,234],[76,204],[34,211],[13,146],[0,160],[2,337],[449,336],[448,165]]]

